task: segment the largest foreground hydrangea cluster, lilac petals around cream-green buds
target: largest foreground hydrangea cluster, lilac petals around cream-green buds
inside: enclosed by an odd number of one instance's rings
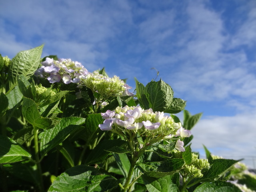
[[[181,123],[175,123],[171,116],[164,116],[163,112],[153,112],[152,109],[143,110],[140,106],[117,107],[114,111],[101,113],[105,119],[99,127],[110,130],[126,139],[128,142],[137,139],[146,146],[160,140],[189,137],[191,132],[182,128]],[[174,138],[175,137],[175,138]],[[176,142],[176,149],[185,151],[184,143]]]

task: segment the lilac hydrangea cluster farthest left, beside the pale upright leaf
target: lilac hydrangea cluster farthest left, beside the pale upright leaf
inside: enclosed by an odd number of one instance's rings
[[[42,66],[36,70],[35,75],[47,78],[50,83],[60,82],[60,80],[65,84],[79,83],[80,75],[88,74],[88,70],[80,62],[70,59],[56,61],[47,57],[41,64]]]

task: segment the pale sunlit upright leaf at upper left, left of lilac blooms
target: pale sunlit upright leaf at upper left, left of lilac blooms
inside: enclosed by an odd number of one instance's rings
[[[43,45],[34,49],[21,51],[13,59],[8,72],[12,84],[18,82],[18,75],[22,74],[26,78],[34,74],[40,64]]]

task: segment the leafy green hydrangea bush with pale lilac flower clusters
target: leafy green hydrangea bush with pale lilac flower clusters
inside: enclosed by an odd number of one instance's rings
[[[104,68],[41,58],[42,48],[0,55],[0,191],[255,190],[237,160],[192,152],[202,113],[185,110],[163,80],[135,79],[132,93]]]

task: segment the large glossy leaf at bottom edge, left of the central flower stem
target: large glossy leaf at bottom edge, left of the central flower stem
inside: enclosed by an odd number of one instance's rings
[[[94,167],[79,165],[60,174],[48,192],[106,192],[118,183],[116,178],[102,174]]]

